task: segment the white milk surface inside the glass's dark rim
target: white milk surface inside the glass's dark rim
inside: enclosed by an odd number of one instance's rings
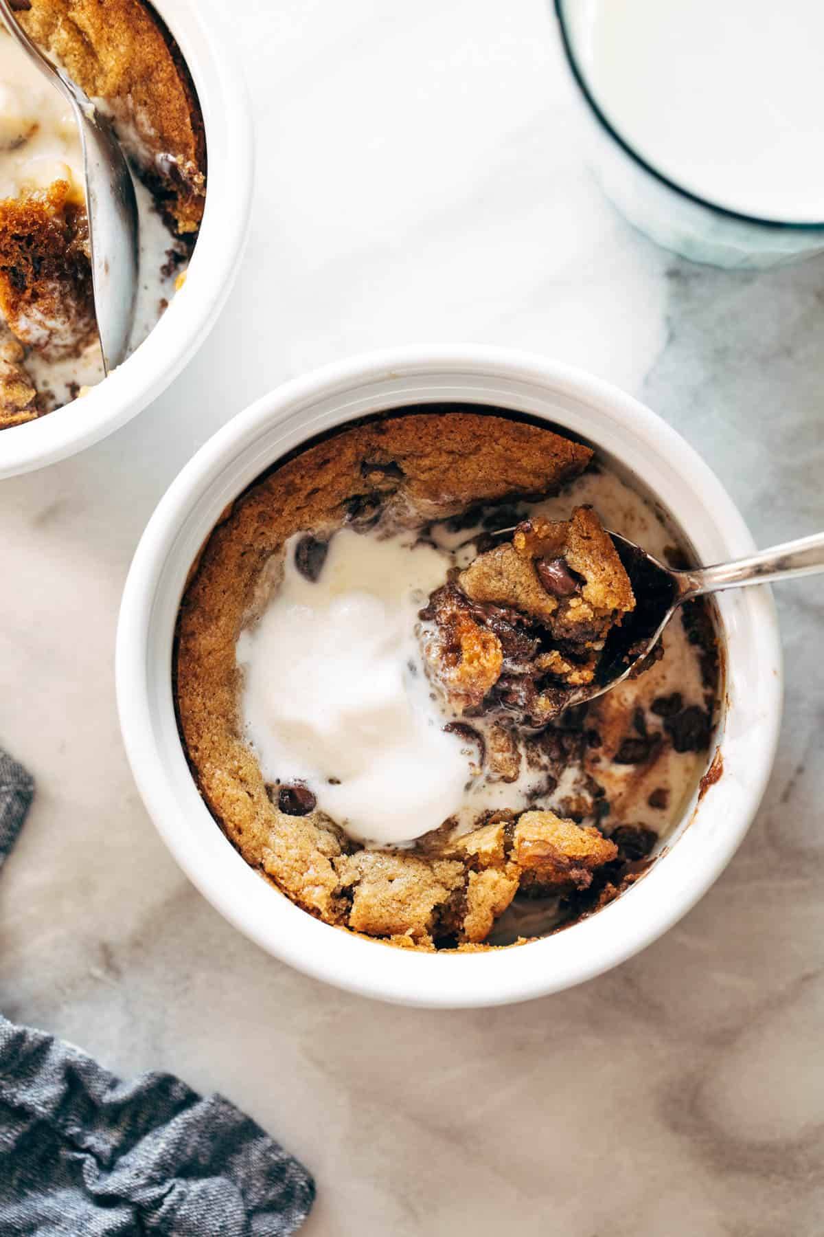
[[[615,131],[740,214],[824,221],[824,0],[573,0],[576,52]]]

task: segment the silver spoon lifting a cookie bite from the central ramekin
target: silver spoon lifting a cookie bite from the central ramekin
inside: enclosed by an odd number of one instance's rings
[[[514,531],[500,528],[493,536]],[[749,584],[770,584],[772,580],[791,580],[824,571],[824,533],[784,542],[731,563],[676,571],[626,537],[607,531],[630,578],[636,606],[624,616],[619,627],[609,632],[594,682],[570,693],[565,709],[594,700],[630,678],[652,652],[663,628],[684,601],[723,589],[742,589]]]

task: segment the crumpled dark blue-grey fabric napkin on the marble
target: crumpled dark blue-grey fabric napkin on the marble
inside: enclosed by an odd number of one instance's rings
[[[0,866],[32,797],[0,751]],[[287,1237],[314,1196],[304,1166],[221,1096],[169,1074],[121,1082],[0,1017],[4,1237]]]

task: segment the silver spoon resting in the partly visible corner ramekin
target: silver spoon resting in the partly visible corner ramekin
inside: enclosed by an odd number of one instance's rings
[[[17,25],[10,0],[0,0],[0,17],[30,61],[70,104],[80,130],[94,308],[103,365],[109,374],[126,359],[137,297],[137,199],[128,165],[110,122],[63,69],[32,43]]]

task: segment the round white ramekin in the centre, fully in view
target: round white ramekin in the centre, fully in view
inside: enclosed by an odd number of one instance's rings
[[[419,1006],[498,1004],[588,980],[649,945],[707,891],[761,799],[781,717],[781,649],[767,589],[720,597],[726,699],[724,772],[694,797],[671,849],[599,914],[508,950],[416,954],[314,919],[257,876],[203,803],[178,736],[172,642],[187,573],[220,512],[285,452],[379,409],[460,401],[546,418],[612,453],[658,495],[702,562],[752,550],[725,490],[642,404],[578,370],[510,350],[415,348],[336,364],[282,386],[214,435],[152,516],[128,574],[117,631],[120,720],[137,785],[161,836],[206,898],[277,957],[371,997]]]

